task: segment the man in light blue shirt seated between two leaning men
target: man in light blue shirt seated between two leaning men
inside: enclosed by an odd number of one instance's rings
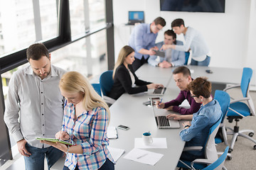
[[[166,45],[183,45],[183,42],[176,40],[176,33],[173,30],[166,30],[164,32],[164,41],[156,43],[156,47],[161,49],[161,46]],[[164,50],[165,57],[151,55],[149,57],[149,64],[152,66],[159,66],[162,68],[169,68],[174,66],[181,66],[185,63],[185,52],[172,50],[171,48]]]

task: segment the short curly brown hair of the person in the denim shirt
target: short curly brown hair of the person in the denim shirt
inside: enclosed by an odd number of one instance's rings
[[[198,77],[188,84],[188,90],[192,91],[196,97],[209,98],[212,90],[211,83],[206,77]]]

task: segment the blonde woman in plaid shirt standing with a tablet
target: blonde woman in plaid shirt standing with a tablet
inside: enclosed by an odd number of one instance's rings
[[[64,117],[62,130],[55,137],[75,145],[43,142],[67,154],[63,169],[114,169],[114,160],[107,149],[110,120],[107,103],[78,72],[64,74],[59,87],[65,97]]]

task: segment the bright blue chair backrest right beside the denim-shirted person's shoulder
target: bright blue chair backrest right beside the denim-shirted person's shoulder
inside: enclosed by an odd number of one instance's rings
[[[230,106],[230,96],[225,91],[216,90],[214,98],[220,104],[220,108],[223,113],[221,123],[223,123],[225,115],[228,113],[228,107]]]

